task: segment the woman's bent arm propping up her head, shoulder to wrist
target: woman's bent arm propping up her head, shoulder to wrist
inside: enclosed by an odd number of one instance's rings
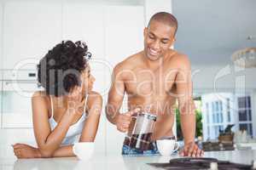
[[[51,132],[48,121],[48,109],[46,95],[36,92],[32,96],[32,116],[33,128],[38,150],[42,157],[51,157],[60,147],[65,138],[68,128],[73,122],[73,113],[66,113],[61,117],[61,121]]]

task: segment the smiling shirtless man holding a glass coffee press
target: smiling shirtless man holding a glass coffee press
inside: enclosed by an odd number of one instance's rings
[[[181,156],[203,156],[195,144],[195,107],[189,59],[172,49],[177,20],[169,13],[154,14],[144,29],[144,49],[120,62],[113,69],[113,82],[108,94],[108,121],[120,132],[131,134],[138,111],[150,111],[157,116],[152,141],[172,137],[174,106],[181,114],[184,147]],[[120,113],[124,94],[128,95],[129,112]],[[144,152],[129,147],[125,139],[123,154],[157,154],[152,148]]]

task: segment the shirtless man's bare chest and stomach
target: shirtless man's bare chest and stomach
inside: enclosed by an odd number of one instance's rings
[[[131,65],[124,69],[125,92],[129,110],[137,107],[157,116],[153,139],[172,136],[175,116],[175,78],[177,76],[177,54],[168,56],[156,69],[148,68],[143,62],[142,53],[131,56]],[[132,132],[134,120],[129,133]]]

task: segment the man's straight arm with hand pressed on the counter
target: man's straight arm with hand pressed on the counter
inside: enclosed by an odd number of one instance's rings
[[[195,104],[192,96],[191,66],[186,56],[180,56],[181,67],[177,71],[177,101],[181,116],[184,147],[181,156],[203,156],[204,152],[195,144]]]

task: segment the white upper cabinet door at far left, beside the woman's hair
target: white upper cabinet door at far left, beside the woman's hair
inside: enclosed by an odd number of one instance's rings
[[[41,59],[61,42],[61,3],[6,1],[3,15],[3,69]],[[22,68],[35,69],[34,64]]]

